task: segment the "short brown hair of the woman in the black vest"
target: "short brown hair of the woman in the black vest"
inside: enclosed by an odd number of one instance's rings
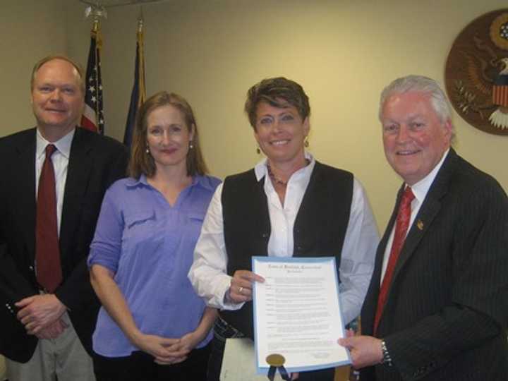
[[[286,107],[291,104],[298,110],[302,120],[310,115],[308,96],[303,87],[294,80],[284,77],[267,78],[256,83],[247,92],[245,111],[250,121],[250,126],[255,129],[256,111],[260,102],[267,102],[274,107]]]

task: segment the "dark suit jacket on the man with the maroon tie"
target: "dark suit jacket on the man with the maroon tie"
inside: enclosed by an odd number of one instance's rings
[[[39,294],[35,279],[35,128],[0,138],[0,353],[14,361],[32,357],[37,337],[25,333],[14,303]],[[55,294],[68,308],[85,349],[91,351],[99,302],[86,258],[102,197],[124,177],[126,147],[76,128],[68,162],[60,227],[63,282]]]

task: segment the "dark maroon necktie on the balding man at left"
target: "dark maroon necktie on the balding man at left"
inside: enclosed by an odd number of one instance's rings
[[[37,219],[35,222],[35,265],[37,282],[52,293],[62,280],[58,223],[56,221],[56,191],[51,156],[56,147],[46,146],[46,158],[42,164],[37,191]]]

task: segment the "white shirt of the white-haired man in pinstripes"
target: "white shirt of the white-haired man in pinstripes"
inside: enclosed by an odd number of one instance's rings
[[[446,152],[444,152],[440,162],[437,163],[434,169],[430,171],[427,176],[418,181],[418,183],[415,183],[413,186],[411,186],[411,191],[413,191],[413,195],[415,196],[415,198],[413,199],[413,201],[411,201],[411,218],[409,219],[409,228],[406,231],[406,236],[411,230],[411,226],[413,226],[413,222],[416,216],[418,215],[418,212],[420,211],[420,207],[423,204],[425,197],[427,197],[428,190],[430,189],[430,186],[432,186],[435,176],[437,175],[437,172],[439,172],[439,170],[441,169],[444,159],[446,159],[448,155],[448,152],[449,148],[448,150],[446,150]],[[404,184],[404,188],[406,188],[407,186],[408,186],[407,184]],[[394,226],[392,226],[392,232],[390,233],[387,246],[385,248],[385,256],[383,257],[380,284],[382,284],[382,279],[385,277],[386,268],[388,266],[389,254],[390,251],[392,251],[392,244],[395,235],[395,225],[397,225],[397,221],[394,224]]]

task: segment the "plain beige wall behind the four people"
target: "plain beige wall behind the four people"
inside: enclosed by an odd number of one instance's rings
[[[83,4],[20,1],[1,12],[18,40],[2,39],[8,63],[0,73],[5,107],[0,135],[32,123],[30,67],[62,47],[85,63],[90,20]],[[58,4],[65,4],[63,23]],[[467,4],[467,5],[466,5]],[[212,174],[253,167],[258,155],[243,114],[246,90],[285,75],[310,97],[310,152],[353,171],[367,189],[384,229],[401,180],[382,152],[377,101],[390,80],[419,73],[442,82],[444,61],[462,28],[504,1],[188,0],[143,6],[147,92],[188,98],[198,116]],[[2,7],[6,7],[2,5]],[[102,21],[107,134],[121,139],[130,97],[138,6],[110,8]],[[16,15],[16,16],[15,16]],[[1,20],[0,20],[1,21]],[[4,24],[4,23],[2,23]],[[4,27],[2,27],[4,28]],[[4,36],[6,34],[4,33]],[[3,46],[3,45],[2,45]],[[21,79],[19,79],[21,78]],[[20,85],[21,84],[21,85]],[[488,135],[454,119],[456,148],[508,189],[508,136]]]

